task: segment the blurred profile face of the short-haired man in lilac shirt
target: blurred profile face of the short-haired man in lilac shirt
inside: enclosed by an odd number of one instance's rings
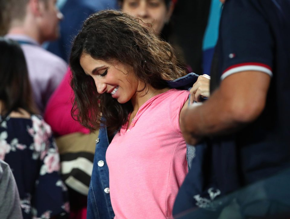
[[[42,41],[55,40],[60,35],[59,22],[63,15],[56,7],[56,0],[40,0],[39,4],[42,11],[40,25]]]

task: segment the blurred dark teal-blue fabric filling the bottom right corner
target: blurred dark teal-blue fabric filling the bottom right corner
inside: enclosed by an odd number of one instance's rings
[[[290,169],[257,181],[211,203],[207,208],[192,208],[176,215],[178,219],[284,219],[290,217]],[[279,189],[277,189],[279,188]],[[213,192],[211,193],[214,194]],[[200,204],[201,199],[199,199]]]

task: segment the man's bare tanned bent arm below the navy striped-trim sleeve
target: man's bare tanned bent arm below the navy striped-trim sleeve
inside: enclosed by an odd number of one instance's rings
[[[260,71],[226,77],[203,105],[181,112],[180,126],[186,142],[195,145],[204,136],[233,132],[255,120],[265,107],[270,79]]]

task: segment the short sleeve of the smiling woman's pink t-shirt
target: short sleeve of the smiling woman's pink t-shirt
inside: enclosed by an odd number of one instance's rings
[[[172,95],[169,106],[170,122],[176,132],[181,134],[179,126],[179,115],[184,103],[188,99],[189,92],[187,90],[176,90]]]

